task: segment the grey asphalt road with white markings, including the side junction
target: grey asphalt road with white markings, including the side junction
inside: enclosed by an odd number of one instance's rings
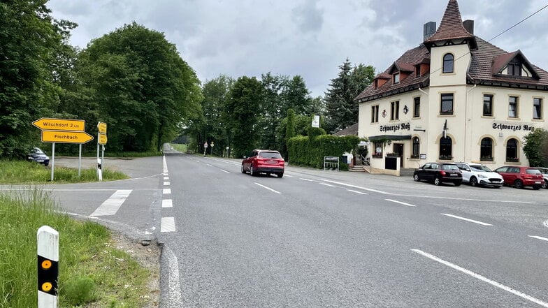
[[[107,163],[132,179],[48,189],[164,244],[161,307],[548,307],[548,190],[251,177],[173,151]]]

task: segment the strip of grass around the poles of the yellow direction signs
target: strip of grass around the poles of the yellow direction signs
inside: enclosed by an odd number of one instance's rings
[[[66,184],[97,182],[95,168],[82,169],[78,177],[78,168],[55,167],[51,182],[51,169],[29,161],[0,161],[0,184]],[[127,179],[120,171],[103,170],[103,181]]]

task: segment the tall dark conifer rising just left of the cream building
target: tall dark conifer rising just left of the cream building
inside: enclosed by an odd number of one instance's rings
[[[333,133],[358,122],[358,104],[354,98],[363,91],[375,77],[373,66],[352,67],[349,59],[339,66],[338,77],[331,80],[326,92],[326,131]]]

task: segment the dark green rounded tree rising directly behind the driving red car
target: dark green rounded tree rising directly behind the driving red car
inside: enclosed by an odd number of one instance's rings
[[[257,111],[264,96],[264,87],[257,78],[238,78],[224,108],[224,119],[233,140],[233,156],[242,157],[257,147]]]

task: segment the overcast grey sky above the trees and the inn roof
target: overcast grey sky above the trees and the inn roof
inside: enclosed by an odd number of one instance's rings
[[[463,20],[486,41],[548,5],[548,0],[459,0]],[[384,71],[440,25],[448,0],[50,0],[56,19],[76,22],[71,44],[85,48],[124,24],[164,33],[205,82],[271,72],[301,75],[323,96],[349,59]],[[521,50],[548,70],[548,8],[491,41]]]

